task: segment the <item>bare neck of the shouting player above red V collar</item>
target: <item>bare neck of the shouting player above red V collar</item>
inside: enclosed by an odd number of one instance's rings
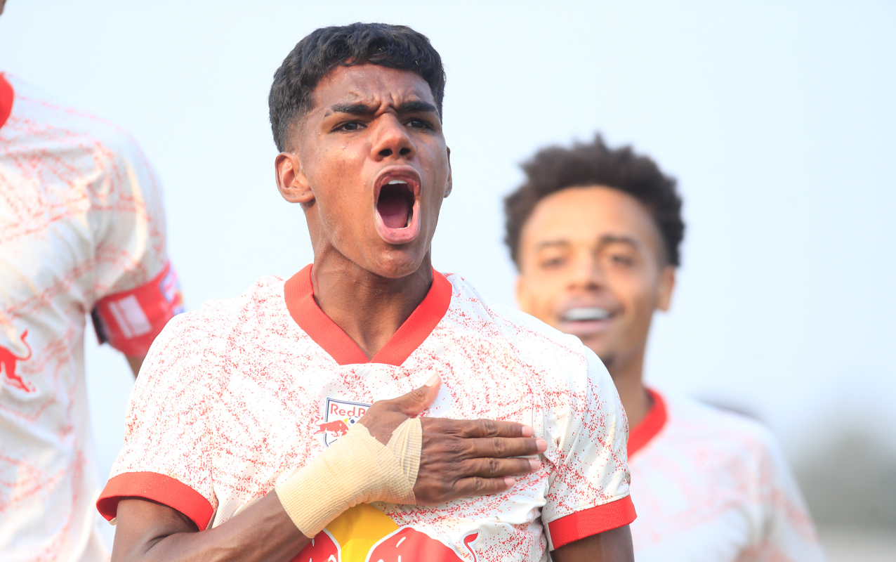
[[[311,282],[323,314],[372,359],[426,298],[433,267],[427,254],[416,272],[389,279],[329,253],[320,259],[314,256]]]

